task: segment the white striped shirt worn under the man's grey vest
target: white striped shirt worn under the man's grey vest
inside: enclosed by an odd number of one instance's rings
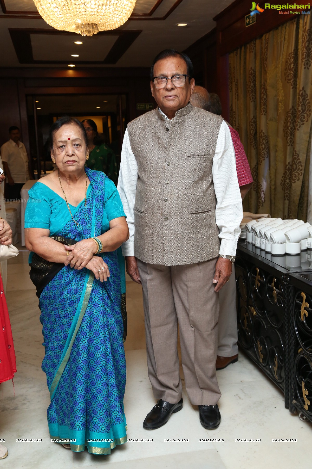
[[[165,115],[165,114],[164,114]],[[167,116],[165,116],[167,118]],[[219,254],[235,256],[243,218],[242,200],[236,173],[235,152],[230,129],[222,122],[212,160],[212,178],[217,198],[216,224],[221,240]],[[123,256],[134,256],[134,203],[138,182],[138,163],[131,150],[126,129],[123,137],[117,189],[127,215],[130,237],[122,245]],[[200,246],[198,246],[200,249]]]

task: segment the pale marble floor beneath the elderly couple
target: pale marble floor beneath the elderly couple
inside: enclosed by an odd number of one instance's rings
[[[154,400],[146,369],[141,287],[129,278],[124,407],[130,441],[117,446],[109,456],[94,456],[87,451],[72,453],[51,443],[46,423],[50,400],[41,370],[44,348],[40,312],[35,287],[29,280],[27,259],[28,252],[24,250],[8,262],[6,297],[17,373],[15,394],[12,382],[0,386],[0,438],[5,438],[9,451],[8,457],[0,461],[0,468],[119,469],[125,464],[129,469],[294,469],[298,461],[301,467],[311,467],[308,448],[312,425],[290,415],[284,408],[283,394],[242,353],[238,363],[218,371],[222,420],[217,430],[203,429],[198,410],[189,403],[185,390],[181,412],[171,416],[158,430],[143,429],[143,419]],[[41,438],[42,441],[17,442],[19,438]],[[189,441],[170,441],[178,438]],[[261,441],[236,441],[247,438]],[[297,441],[272,442],[273,438],[297,438]],[[138,439],[151,440],[136,441]]]

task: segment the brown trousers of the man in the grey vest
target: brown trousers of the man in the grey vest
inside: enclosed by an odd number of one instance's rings
[[[193,405],[216,405],[219,298],[212,283],[217,258],[190,265],[153,265],[138,259],[143,287],[148,376],[156,399],[182,397],[177,350]]]

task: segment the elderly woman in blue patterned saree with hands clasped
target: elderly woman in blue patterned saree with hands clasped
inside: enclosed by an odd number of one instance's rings
[[[58,169],[29,190],[25,213],[30,277],[43,325],[42,369],[51,397],[49,432],[72,451],[87,446],[89,453],[109,454],[127,441],[116,249],[129,231],[114,183],[85,168],[83,125],[62,117],[50,138]]]

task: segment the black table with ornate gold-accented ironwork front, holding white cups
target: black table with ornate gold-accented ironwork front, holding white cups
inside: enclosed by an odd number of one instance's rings
[[[240,241],[235,277],[239,346],[312,421],[312,251],[277,257]]]

